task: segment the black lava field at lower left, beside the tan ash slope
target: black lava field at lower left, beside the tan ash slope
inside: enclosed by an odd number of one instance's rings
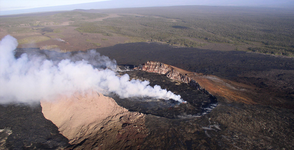
[[[9,128],[11,133],[3,143],[4,149],[64,149],[69,146],[67,138],[44,118],[40,104],[0,105],[0,110],[0,129]]]

